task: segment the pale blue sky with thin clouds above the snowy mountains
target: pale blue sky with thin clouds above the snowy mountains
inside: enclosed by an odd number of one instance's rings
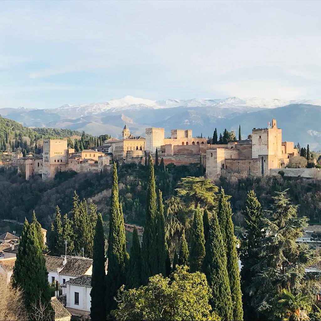
[[[320,1],[1,1],[0,108],[321,98]]]

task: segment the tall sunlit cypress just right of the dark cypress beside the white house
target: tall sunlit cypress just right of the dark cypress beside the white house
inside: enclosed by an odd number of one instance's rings
[[[125,226],[122,210],[118,199],[118,176],[114,162],[113,180],[111,187],[111,201],[109,209],[108,236],[108,273],[106,277],[106,311],[107,314],[117,307],[114,297],[122,284],[126,282],[125,262],[126,252]]]

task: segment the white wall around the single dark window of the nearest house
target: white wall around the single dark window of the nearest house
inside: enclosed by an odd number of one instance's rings
[[[66,308],[72,308],[82,311],[90,311],[91,307],[91,288],[85,286],[69,285],[67,284],[66,289]],[[65,290],[63,290],[65,291]],[[75,292],[79,293],[79,304],[75,304]]]

